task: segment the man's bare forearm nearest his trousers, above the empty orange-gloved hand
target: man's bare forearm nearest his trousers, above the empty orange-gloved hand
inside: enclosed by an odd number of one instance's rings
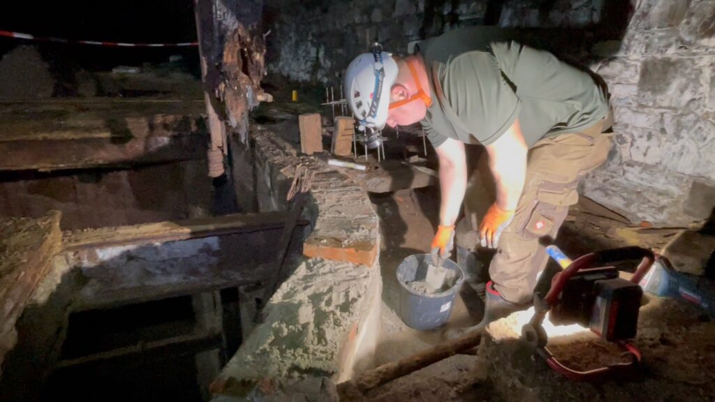
[[[486,146],[489,168],[496,183],[496,205],[501,210],[516,210],[526,181],[528,148],[516,119],[495,142]]]

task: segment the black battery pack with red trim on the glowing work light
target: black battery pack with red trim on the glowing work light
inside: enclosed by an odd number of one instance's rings
[[[593,293],[596,299],[588,328],[609,342],[634,338],[643,289],[623,278],[613,278],[596,281]]]

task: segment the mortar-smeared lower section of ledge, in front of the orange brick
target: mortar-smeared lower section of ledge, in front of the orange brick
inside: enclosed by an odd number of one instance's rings
[[[378,332],[380,294],[379,270],[305,261],[273,295],[264,322],[227,363],[212,393],[266,397],[305,378],[337,383],[352,376],[355,365],[364,364],[359,359],[372,358],[369,335]]]

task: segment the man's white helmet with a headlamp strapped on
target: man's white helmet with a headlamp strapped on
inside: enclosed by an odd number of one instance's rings
[[[382,129],[388,120],[390,89],[398,77],[398,64],[383,46],[355,57],[345,71],[345,97],[361,126]]]

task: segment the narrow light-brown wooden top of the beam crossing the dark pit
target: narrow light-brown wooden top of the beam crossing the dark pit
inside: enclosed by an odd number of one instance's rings
[[[257,230],[280,229],[285,225],[286,212],[260,212],[203,217],[179,222],[156,222],[143,225],[102,227],[77,230],[65,234],[64,250],[77,250],[108,245],[140,245],[169,242]],[[309,225],[299,220],[297,225]]]

